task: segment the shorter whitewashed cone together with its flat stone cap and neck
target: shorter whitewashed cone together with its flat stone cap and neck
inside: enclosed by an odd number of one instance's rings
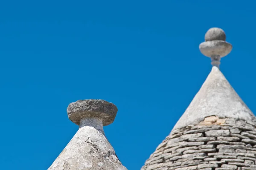
[[[48,170],[127,170],[103,131],[103,126],[113,123],[116,113],[116,106],[105,100],[70,103],[67,114],[79,130]]]

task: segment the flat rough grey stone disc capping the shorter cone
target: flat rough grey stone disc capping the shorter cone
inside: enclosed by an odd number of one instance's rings
[[[67,107],[67,116],[76,125],[86,117],[102,119],[103,126],[113,123],[117,113],[116,105],[100,99],[78,100]]]

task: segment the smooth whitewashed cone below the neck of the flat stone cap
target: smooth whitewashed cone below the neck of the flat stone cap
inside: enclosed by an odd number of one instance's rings
[[[102,122],[101,122],[102,123]],[[102,127],[103,128],[103,127]],[[96,159],[97,158],[97,159]],[[157,166],[157,165],[156,165]],[[127,170],[104,133],[92,125],[81,127],[48,170]]]

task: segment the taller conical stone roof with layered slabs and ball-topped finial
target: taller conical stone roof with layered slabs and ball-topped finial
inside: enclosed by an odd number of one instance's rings
[[[232,45],[211,28],[200,51],[212,71],[141,170],[256,170],[256,117],[219,70]]]

